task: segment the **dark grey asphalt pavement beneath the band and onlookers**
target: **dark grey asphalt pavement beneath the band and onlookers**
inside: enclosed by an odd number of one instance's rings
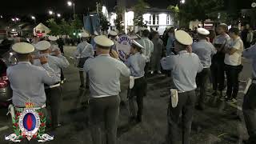
[[[92,143],[88,127],[88,107],[85,105],[89,92],[78,88],[80,81],[78,69],[74,66],[74,58],[72,56],[74,49],[75,47],[65,46],[65,54],[70,61],[70,67],[64,70],[66,82],[63,84],[62,127],[50,133],[54,135],[54,141],[46,143]],[[250,63],[250,60],[243,59],[244,69],[240,74],[238,103],[223,102],[211,96],[212,91],[208,90],[206,110],[194,110],[191,144],[240,144],[242,139],[248,138],[242,118],[241,106],[244,95],[242,92],[246,87],[246,80],[250,78]],[[122,78],[122,93],[120,95],[125,105],[120,107],[118,143],[165,144],[170,80],[164,74],[148,78],[148,94],[145,98],[143,122],[137,125],[130,125],[128,122],[130,114],[126,99],[127,79]],[[10,116],[6,116],[6,113],[6,108],[0,108],[1,144],[12,143],[4,141],[5,135],[13,133]],[[239,120],[238,116],[242,120]],[[23,141],[22,143],[37,142]]]

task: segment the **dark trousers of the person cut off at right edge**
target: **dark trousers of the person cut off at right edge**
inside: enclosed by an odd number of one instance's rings
[[[254,144],[256,143],[256,84],[252,84],[247,91],[242,104],[242,112],[250,136],[249,142]]]

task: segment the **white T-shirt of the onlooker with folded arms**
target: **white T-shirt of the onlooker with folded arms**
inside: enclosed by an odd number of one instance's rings
[[[243,51],[243,42],[240,37],[236,39],[230,39],[226,45],[229,49],[233,48],[237,51],[234,54],[225,55],[225,64],[230,66],[239,66],[242,62],[242,51]]]

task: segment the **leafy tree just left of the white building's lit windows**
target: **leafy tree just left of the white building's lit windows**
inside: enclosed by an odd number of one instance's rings
[[[138,0],[137,4],[133,7],[135,26],[146,27],[146,23],[143,22],[143,14],[146,13],[146,9],[149,7],[150,5],[144,2],[144,0]]]

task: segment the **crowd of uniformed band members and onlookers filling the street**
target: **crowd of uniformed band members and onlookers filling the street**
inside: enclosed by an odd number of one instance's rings
[[[218,36],[214,37],[215,30],[198,28],[196,38],[193,38],[191,33],[174,30],[172,27],[166,30],[161,39],[156,31],[142,30],[141,36],[130,34],[130,54],[126,55],[125,61],[118,55],[117,32],[111,30],[108,37],[94,34],[90,42],[90,34],[83,32],[82,42],[78,44],[74,55],[78,58],[80,88],[90,90],[89,115],[93,143],[102,143],[102,133],[106,134],[107,143],[117,143],[121,75],[130,78],[127,94],[129,122],[143,122],[143,98],[147,94],[147,78],[155,72],[162,74],[164,70],[170,74],[172,89],[167,115],[168,144],[178,143],[178,122],[181,114],[182,143],[190,143],[194,107],[197,110],[206,108],[204,100],[209,80],[213,83],[214,96],[226,102],[236,102],[242,54],[245,58],[255,59],[256,46],[244,44],[239,36],[240,30],[236,27],[228,30],[226,24],[220,24],[216,32]],[[46,101],[50,101],[53,130],[61,126],[61,75],[62,69],[69,66],[61,53],[63,43],[58,43],[59,46],[54,36],[36,40],[32,44],[15,43],[12,49],[17,53],[18,64],[7,70],[10,86],[14,91],[14,107],[22,109],[26,100],[30,99],[35,106],[46,109]],[[37,52],[34,52],[34,48]],[[254,61],[253,67],[252,78],[256,78]],[[223,94],[225,74],[227,90]],[[250,135],[246,143],[250,144],[256,142],[255,81],[252,80],[243,104],[246,127]],[[134,106],[135,98],[137,111]]]

